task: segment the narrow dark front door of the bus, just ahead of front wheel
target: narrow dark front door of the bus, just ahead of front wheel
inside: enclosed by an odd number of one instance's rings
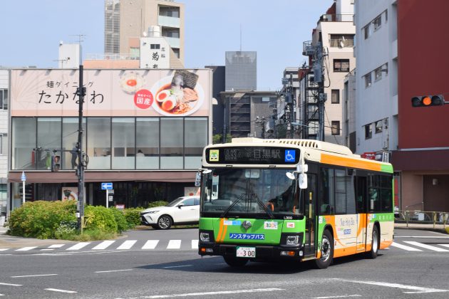
[[[304,258],[315,257],[315,221],[316,221],[316,174],[307,174],[307,189],[301,190],[306,219]]]

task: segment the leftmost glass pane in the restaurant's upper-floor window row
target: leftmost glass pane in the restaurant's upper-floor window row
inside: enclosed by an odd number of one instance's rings
[[[14,117],[11,137],[11,168],[34,169],[36,117]]]

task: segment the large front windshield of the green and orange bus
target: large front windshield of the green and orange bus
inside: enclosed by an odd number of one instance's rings
[[[296,181],[285,175],[288,169],[211,170],[202,180],[203,214],[267,218],[300,212]]]

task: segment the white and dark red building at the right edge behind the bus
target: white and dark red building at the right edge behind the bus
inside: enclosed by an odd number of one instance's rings
[[[402,210],[449,211],[449,107],[411,106],[447,89],[447,11],[444,0],[356,1],[357,152],[391,154]]]

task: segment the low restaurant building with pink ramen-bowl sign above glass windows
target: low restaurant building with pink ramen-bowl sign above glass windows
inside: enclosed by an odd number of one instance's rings
[[[85,70],[86,202],[147,206],[195,192],[202,148],[212,139],[211,70]],[[29,85],[29,82],[35,82]],[[11,70],[11,209],[76,194],[78,70]],[[52,156],[61,169],[51,172]]]

